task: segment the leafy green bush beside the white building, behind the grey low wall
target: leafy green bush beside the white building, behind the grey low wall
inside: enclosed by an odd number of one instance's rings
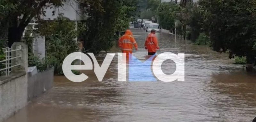
[[[45,21],[39,25],[39,32],[46,39],[46,58],[47,64],[54,67],[54,73],[62,75],[62,63],[64,59],[78,50],[75,40],[77,32],[75,23],[68,18],[58,17],[54,21]]]

